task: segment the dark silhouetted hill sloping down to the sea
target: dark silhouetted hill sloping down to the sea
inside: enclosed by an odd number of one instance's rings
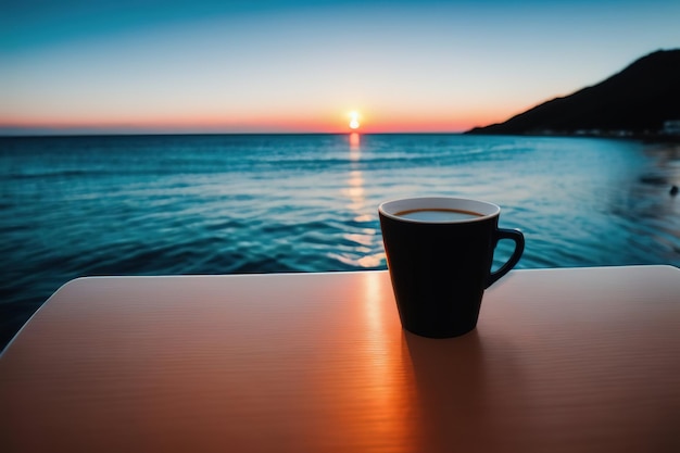
[[[672,134],[679,121],[680,49],[673,49],[650,53],[596,85],[466,134],[650,136]]]

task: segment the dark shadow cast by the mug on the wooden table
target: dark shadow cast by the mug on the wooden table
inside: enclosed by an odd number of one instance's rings
[[[517,443],[521,420],[508,420],[504,414],[504,408],[521,405],[521,387],[505,395],[507,385],[503,383],[520,383],[521,369],[512,357],[500,362],[498,356],[490,357],[477,329],[448,339],[404,330],[402,348],[404,366],[411,366],[415,377],[415,430],[427,445],[424,451],[520,451],[526,446]]]

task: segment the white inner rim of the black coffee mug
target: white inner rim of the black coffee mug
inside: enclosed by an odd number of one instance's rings
[[[453,207],[452,203],[457,204],[457,207]],[[461,206],[462,205],[462,206]],[[481,209],[471,207],[480,206]],[[419,206],[419,207],[417,207]],[[418,209],[450,209],[458,211],[468,211],[478,214],[476,217],[456,219],[456,221],[421,221],[416,218],[406,218],[396,215],[396,212],[411,211]],[[481,212],[480,212],[481,211]],[[457,197],[415,197],[415,198],[401,198],[389,201],[383,201],[378,206],[378,212],[391,219],[398,222],[405,222],[411,224],[467,224],[475,222],[483,222],[489,218],[496,217],[501,214],[501,206],[488,201],[475,200],[471,198],[457,198]]]

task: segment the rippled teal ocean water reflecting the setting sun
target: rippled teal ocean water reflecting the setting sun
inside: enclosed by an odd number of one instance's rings
[[[680,146],[635,140],[4,137],[0,348],[79,276],[386,268],[377,206],[402,197],[500,204],[519,268],[680,266],[672,185]]]

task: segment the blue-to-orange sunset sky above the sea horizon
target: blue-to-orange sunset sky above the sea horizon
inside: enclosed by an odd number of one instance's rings
[[[678,24],[678,0],[0,0],[0,135],[458,133]]]

